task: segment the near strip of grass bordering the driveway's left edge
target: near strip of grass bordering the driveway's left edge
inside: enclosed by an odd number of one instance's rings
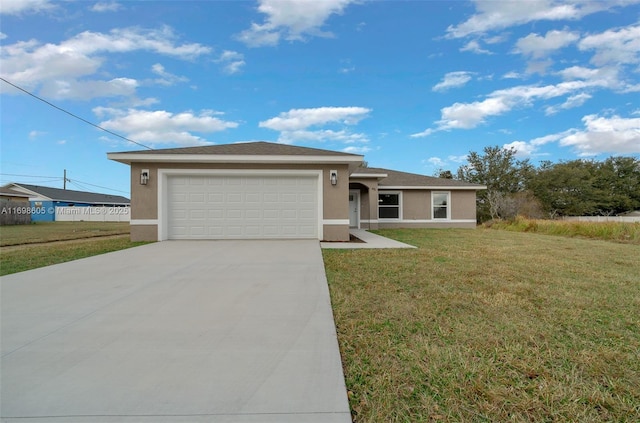
[[[131,242],[129,237],[122,236],[68,241],[61,244],[6,248],[0,252],[0,276],[123,250],[142,244],[145,243]]]

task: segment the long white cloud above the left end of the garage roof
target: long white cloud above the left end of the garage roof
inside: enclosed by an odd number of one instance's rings
[[[93,112],[99,118],[108,117],[100,126],[123,133],[127,138],[147,145],[178,144],[202,145],[208,141],[194,133],[213,133],[236,128],[236,122],[225,121],[215,115],[219,112],[202,110],[173,114],[165,110],[114,109],[96,107]]]

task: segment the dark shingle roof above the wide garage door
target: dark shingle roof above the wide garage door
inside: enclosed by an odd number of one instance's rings
[[[158,150],[125,151],[135,154],[222,154],[249,156],[353,156],[357,154],[319,148],[298,147],[295,145],[277,144],[266,141],[244,142],[236,144],[203,145],[198,147],[162,148]],[[122,154],[122,153],[115,153]]]

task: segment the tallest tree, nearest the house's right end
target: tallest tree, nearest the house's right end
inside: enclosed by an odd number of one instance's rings
[[[513,217],[510,198],[526,190],[533,166],[529,160],[517,160],[515,148],[485,147],[483,153],[469,152],[468,163],[458,168],[457,177],[487,186],[476,198],[479,221]]]

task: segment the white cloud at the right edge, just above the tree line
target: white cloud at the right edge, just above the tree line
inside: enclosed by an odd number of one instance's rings
[[[587,115],[585,128],[560,139],[561,146],[573,147],[582,156],[601,153],[640,153],[640,118]]]

